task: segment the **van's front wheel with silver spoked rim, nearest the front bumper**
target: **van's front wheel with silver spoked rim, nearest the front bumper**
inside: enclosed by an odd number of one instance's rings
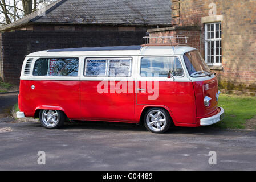
[[[145,127],[153,133],[165,133],[170,127],[170,115],[160,108],[152,108],[144,115]]]

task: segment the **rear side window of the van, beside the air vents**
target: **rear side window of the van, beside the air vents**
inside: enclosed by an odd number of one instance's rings
[[[41,58],[35,61],[34,76],[78,76],[78,58]]]

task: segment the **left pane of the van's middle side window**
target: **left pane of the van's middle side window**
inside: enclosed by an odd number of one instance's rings
[[[86,60],[86,76],[106,76],[107,60]]]

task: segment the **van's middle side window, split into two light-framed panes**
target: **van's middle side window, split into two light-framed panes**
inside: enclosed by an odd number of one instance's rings
[[[86,59],[84,76],[129,77],[132,59]]]

